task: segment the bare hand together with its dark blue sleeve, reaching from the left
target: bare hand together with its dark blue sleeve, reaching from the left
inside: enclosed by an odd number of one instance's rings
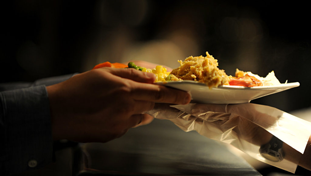
[[[48,164],[53,140],[106,142],[120,137],[129,128],[150,122],[144,112],[154,102],[190,102],[188,93],[153,85],[154,79],[135,69],[102,68],[47,87],[0,92],[1,172]],[[47,82],[51,81],[37,84]]]

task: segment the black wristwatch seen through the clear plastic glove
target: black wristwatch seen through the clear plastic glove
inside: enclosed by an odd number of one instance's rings
[[[273,136],[267,144],[260,146],[259,153],[267,160],[280,162],[284,158],[282,146],[283,141]]]

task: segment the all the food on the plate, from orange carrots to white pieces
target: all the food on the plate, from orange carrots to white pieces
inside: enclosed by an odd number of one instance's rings
[[[178,62],[180,63],[180,66],[173,69],[172,72],[167,72],[167,69],[160,65],[151,69],[139,67],[133,62],[129,62],[128,65],[124,65],[123,63],[105,62],[96,65],[93,69],[100,67],[135,68],[142,72],[152,72],[156,74],[156,82],[191,80],[202,82],[209,88],[221,85],[255,87],[281,84],[273,71],[266,77],[260,77],[252,72],[244,72],[236,69],[234,76],[228,76],[224,70],[218,68],[217,59],[208,52],[206,52],[206,57],[203,57],[202,55],[196,57],[190,56],[184,61],[178,60]]]

